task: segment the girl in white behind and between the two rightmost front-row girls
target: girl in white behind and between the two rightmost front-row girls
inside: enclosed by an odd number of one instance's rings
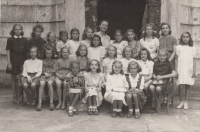
[[[130,46],[126,46],[122,53],[123,58],[120,61],[123,64],[123,72],[127,74],[128,63],[131,61],[136,61],[135,59],[131,58],[133,56],[133,50]]]

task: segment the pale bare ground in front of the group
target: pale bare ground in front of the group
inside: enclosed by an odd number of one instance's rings
[[[41,112],[35,108],[20,104],[19,108],[12,103],[11,91],[0,88],[0,132],[200,132],[200,99],[199,81],[191,92],[190,109],[174,107],[166,113],[148,108],[140,119],[112,118],[110,105],[104,104],[100,115],[89,116],[85,111],[80,115],[68,117],[65,110],[49,111],[49,105],[43,105]]]

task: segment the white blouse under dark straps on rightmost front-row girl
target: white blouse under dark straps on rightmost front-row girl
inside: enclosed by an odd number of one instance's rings
[[[135,78],[133,78],[131,76],[131,74],[129,74],[129,80],[130,80],[130,83],[131,83],[131,87],[132,88],[136,88],[137,87],[137,83],[139,81],[139,74],[137,74]],[[140,90],[144,89],[144,77],[141,78],[141,83],[140,83],[139,89]]]

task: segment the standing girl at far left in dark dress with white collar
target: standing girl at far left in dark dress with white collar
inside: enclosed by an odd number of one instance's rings
[[[7,40],[6,50],[7,50],[7,60],[9,70],[11,74],[11,88],[13,93],[13,103],[19,101],[17,95],[17,79],[16,76],[21,73],[22,65],[26,60],[27,52],[27,39],[23,37],[23,27],[20,24],[15,24],[10,32],[11,37]]]

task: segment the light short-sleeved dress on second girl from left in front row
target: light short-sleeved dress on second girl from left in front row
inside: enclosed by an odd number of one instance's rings
[[[86,89],[89,89],[89,92],[86,93],[85,97],[82,99],[83,103],[87,102],[89,96],[95,95],[97,97],[97,107],[102,104],[103,96],[101,91],[96,91],[96,88],[101,89],[102,84],[104,83],[104,75],[102,73],[97,73],[95,76],[91,72],[86,72],[85,83]]]

